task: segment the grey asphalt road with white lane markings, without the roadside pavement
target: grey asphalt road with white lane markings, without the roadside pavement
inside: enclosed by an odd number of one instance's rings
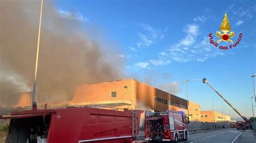
[[[191,134],[187,141],[179,142],[237,142],[241,130],[236,128],[225,128],[223,130]]]

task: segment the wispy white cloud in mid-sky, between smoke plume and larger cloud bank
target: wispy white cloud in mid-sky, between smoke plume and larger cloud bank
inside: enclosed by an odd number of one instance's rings
[[[143,24],[142,27],[144,32],[138,33],[140,39],[136,44],[138,47],[149,47],[152,44],[156,44],[164,38],[164,34],[167,31],[167,28],[161,30],[146,24]]]

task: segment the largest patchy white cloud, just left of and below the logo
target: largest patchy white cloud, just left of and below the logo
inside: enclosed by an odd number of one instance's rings
[[[199,61],[223,55],[220,49],[212,46],[208,38],[198,41],[199,26],[187,25],[183,29],[185,38],[164,51],[168,58],[178,62]]]

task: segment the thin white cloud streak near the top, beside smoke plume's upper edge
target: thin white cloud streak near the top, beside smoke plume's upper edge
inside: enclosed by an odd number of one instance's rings
[[[76,20],[80,20],[82,22],[89,22],[89,19],[87,17],[84,17],[82,15],[82,13],[80,13],[80,12],[71,12],[71,11],[59,9],[58,13],[63,18],[76,19]]]

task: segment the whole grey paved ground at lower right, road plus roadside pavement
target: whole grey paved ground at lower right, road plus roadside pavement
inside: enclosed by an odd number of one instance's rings
[[[140,138],[139,141],[143,142]],[[256,136],[252,130],[237,130],[236,128],[225,128],[215,131],[206,131],[196,134],[190,134],[187,141],[179,142],[253,142],[256,143]]]

